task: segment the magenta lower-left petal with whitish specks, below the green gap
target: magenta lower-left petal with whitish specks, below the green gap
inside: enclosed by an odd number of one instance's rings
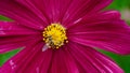
[[[47,73],[52,59],[52,50],[42,52],[43,43],[34,43],[8,60],[2,73]]]

